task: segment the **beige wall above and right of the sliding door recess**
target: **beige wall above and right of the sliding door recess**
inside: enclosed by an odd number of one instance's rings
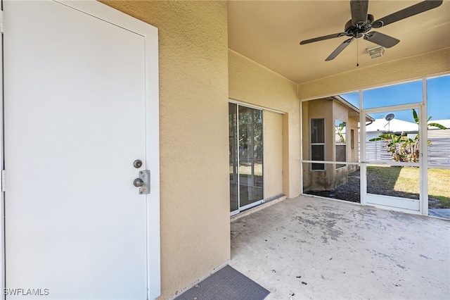
[[[229,50],[229,96],[248,104],[282,111],[283,194],[300,194],[300,102],[297,85]]]

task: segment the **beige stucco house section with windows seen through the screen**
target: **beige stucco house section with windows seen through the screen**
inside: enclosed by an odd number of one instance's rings
[[[340,96],[302,103],[302,151],[309,161],[359,161],[359,110]],[[373,119],[367,118],[367,122]],[[356,165],[304,163],[303,190],[333,190]]]

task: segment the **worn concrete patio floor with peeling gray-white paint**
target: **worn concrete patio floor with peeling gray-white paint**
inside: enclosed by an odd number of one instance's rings
[[[450,222],[298,196],[231,223],[266,299],[450,299]]]

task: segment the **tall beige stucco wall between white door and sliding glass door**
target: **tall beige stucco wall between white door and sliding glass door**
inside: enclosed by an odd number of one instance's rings
[[[230,258],[226,1],[103,1],[159,30],[162,299]]]

